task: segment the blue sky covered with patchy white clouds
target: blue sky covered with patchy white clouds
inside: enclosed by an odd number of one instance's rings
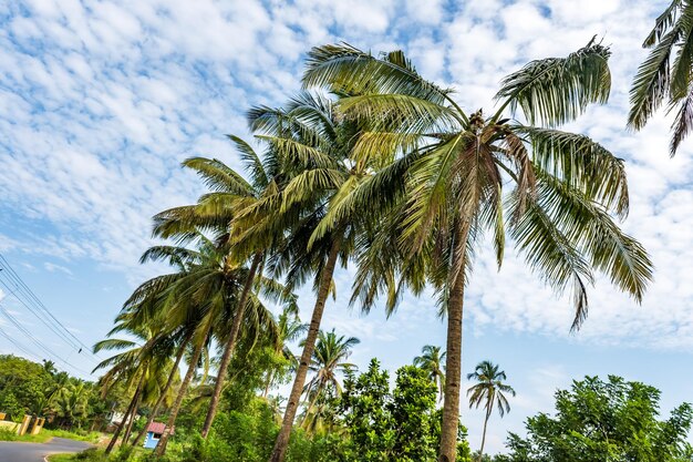
[[[2,2],[0,255],[70,332],[92,345],[134,286],[157,269],[137,264],[152,243],[151,216],[204,191],[180,161],[205,155],[239,166],[224,135],[249,137],[249,106],[281,104],[300,88],[310,47],[403,49],[473,111],[493,109],[505,74],[597,34],[613,52],[611,100],[569,129],[627,160],[632,196],[623,226],[651,253],[655,281],[642,306],[598,281],[587,324],[570,335],[568,300],[511,254],[497,271],[482,253],[468,290],[464,370],[483,359],[499,362],[518,392],[510,414],[492,421],[493,452],[527,415],[549,411],[557,388],[585,374],[654,384],[669,412],[693,391],[693,140],[671,160],[671,120],[662,115],[638,134],[624,130],[628,89],[645,55],[640,43],[664,8],[649,0]],[[385,320],[346,306],[349,271],[337,284],[340,296],[324,325],[361,338],[356,363],[377,356],[394,370],[422,346],[443,345],[430,297],[406,298]],[[59,356],[59,366],[89,377],[81,371],[91,370],[93,357],[44,329],[11,285],[0,290],[0,306]],[[311,302],[303,291],[302,307]],[[1,316],[0,328],[38,359],[48,356]],[[0,352],[21,351],[0,336]],[[463,409],[473,448],[482,418]]]

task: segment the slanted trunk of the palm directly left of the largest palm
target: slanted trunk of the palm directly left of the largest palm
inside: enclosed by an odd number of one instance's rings
[[[322,312],[324,311],[324,304],[330,294],[330,286],[332,285],[332,275],[334,274],[334,267],[337,265],[337,257],[339,256],[340,239],[335,238],[332,242],[332,248],[328,256],[328,261],[322,269],[322,276],[320,278],[320,287],[318,289],[318,297],[316,298],[316,305],[313,307],[313,315],[310,319],[310,327],[308,329],[308,336],[306,337],[306,343],[303,345],[303,353],[301,355],[301,361],[299,362],[298,370],[296,372],[296,379],[293,380],[293,387],[291,388],[291,394],[289,394],[289,402],[285,411],[283,421],[281,422],[281,430],[277,435],[277,442],[275,443],[275,450],[270,455],[270,462],[283,462],[287,448],[289,445],[289,438],[291,437],[291,428],[293,427],[293,419],[298,411],[298,404],[301,400],[303,392],[303,386],[306,384],[306,376],[308,373],[308,366],[313,356],[316,349],[316,340],[318,332],[320,331],[320,321],[322,320]]]

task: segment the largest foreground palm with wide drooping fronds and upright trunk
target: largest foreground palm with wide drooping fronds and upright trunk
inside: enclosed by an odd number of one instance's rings
[[[370,121],[352,155],[397,157],[344,194],[332,213],[382,216],[356,277],[371,301],[385,289],[381,270],[393,266],[415,292],[425,276],[439,295],[447,316],[441,462],[456,455],[464,294],[484,232],[499,266],[509,234],[544,281],[559,294],[572,289],[572,329],[587,316],[594,270],[637,301],[652,277],[645,250],[616,222],[628,213],[623,161],[556,129],[607,101],[609,55],[592,40],[567,58],[532,61],[501,82],[499,107],[486,116],[465,112],[402,52],[377,59],[341,44],[309,54],[304,85],[343,95],[338,106],[348,121]],[[526,123],[506,117],[516,107]],[[391,306],[397,295],[387,290]]]

